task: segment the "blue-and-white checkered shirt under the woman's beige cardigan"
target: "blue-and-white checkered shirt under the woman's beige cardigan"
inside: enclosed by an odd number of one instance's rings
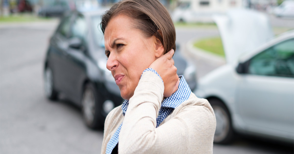
[[[153,70],[152,68],[147,68],[146,70],[143,71],[143,73],[146,71],[152,71],[156,75],[159,76],[159,74],[155,70]],[[142,75],[143,75],[143,73],[142,73]],[[141,77],[142,77],[142,75],[141,75]],[[169,114],[171,114],[171,112],[174,109],[176,109],[176,107],[178,107],[183,101],[188,100],[190,97],[191,90],[190,90],[185,78],[183,77],[183,75],[179,75],[179,77],[180,77],[180,83],[179,83],[178,90],[175,93],[173,93],[170,97],[164,99],[163,102],[161,103],[161,108],[159,109],[158,116],[156,118],[156,127],[158,127],[160,125],[160,123]],[[123,116],[126,114],[126,111],[128,109],[128,104],[129,104],[128,102],[129,102],[128,100],[125,100],[123,102],[123,105],[121,106],[121,109],[123,110]],[[113,136],[108,141],[108,143],[106,145],[106,154],[111,154],[113,148],[117,145],[118,135],[119,135],[119,132],[121,131],[122,124],[123,123],[121,123],[121,125],[119,125],[116,132],[113,134]]]

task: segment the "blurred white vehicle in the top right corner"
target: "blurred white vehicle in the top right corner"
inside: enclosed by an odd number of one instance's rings
[[[277,17],[294,18],[294,0],[285,0],[273,11]]]

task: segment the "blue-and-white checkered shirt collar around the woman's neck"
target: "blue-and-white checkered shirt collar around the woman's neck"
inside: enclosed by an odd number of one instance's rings
[[[163,100],[161,103],[161,107],[168,107],[175,109],[178,107],[181,103],[188,100],[191,95],[191,89],[188,86],[185,78],[183,75],[179,75],[180,83],[178,90],[173,93],[170,97]],[[123,115],[126,114],[126,111],[128,109],[128,100],[125,100],[123,102],[123,105],[121,106],[121,109],[123,110]]]

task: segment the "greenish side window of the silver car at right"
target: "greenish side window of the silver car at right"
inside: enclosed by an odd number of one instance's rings
[[[278,43],[255,55],[248,73],[255,75],[294,77],[294,39]]]

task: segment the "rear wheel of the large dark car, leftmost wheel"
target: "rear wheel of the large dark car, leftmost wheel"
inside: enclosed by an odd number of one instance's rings
[[[44,88],[48,99],[57,100],[58,92],[54,89],[53,72],[50,67],[46,67],[44,71]]]

